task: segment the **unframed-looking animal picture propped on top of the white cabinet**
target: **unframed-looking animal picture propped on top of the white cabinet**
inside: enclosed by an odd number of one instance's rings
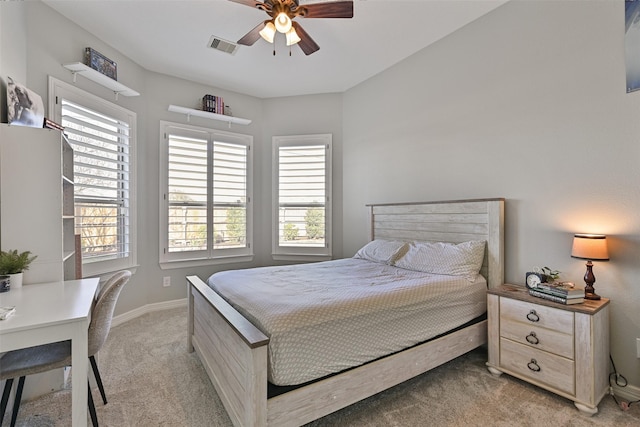
[[[7,77],[7,118],[10,125],[41,128],[44,124],[42,98]]]

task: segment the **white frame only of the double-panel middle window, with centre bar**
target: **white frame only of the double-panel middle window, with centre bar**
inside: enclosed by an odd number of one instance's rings
[[[169,252],[169,134],[174,130],[185,137],[207,139],[208,165],[211,166],[212,153],[215,141],[244,145],[247,147],[246,163],[246,246],[243,248],[216,249],[213,245],[213,233],[208,232],[207,245],[209,249],[202,251]],[[159,229],[159,262],[160,268],[184,268],[204,265],[217,265],[223,263],[247,262],[253,260],[253,136],[236,132],[221,131],[213,128],[193,126],[189,124],[160,121],[160,229]],[[207,185],[213,182],[212,170],[207,172]],[[209,193],[208,193],[209,194]],[[211,209],[214,201],[207,197],[207,225],[212,227]],[[213,229],[211,228],[211,231]]]

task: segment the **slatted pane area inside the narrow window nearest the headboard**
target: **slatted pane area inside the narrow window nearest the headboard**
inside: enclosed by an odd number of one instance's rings
[[[325,246],[326,146],[279,147],[279,245]]]

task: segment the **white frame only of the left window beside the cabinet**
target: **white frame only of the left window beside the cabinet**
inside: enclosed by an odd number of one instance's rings
[[[62,122],[62,102],[61,98],[72,103],[81,105],[91,110],[105,114],[106,116],[127,122],[129,125],[129,162],[128,162],[128,211],[129,211],[129,233],[128,239],[129,254],[126,257],[107,260],[82,261],[83,276],[98,276],[105,273],[112,273],[123,269],[135,272],[138,266],[138,239],[137,239],[137,114],[120,105],[107,101],[99,96],[86,92],[74,85],[70,85],[52,76],[49,76],[49,114],[53,120]]]

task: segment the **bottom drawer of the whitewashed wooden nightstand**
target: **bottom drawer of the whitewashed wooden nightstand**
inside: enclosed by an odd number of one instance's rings
[[[500,366],[525,379],[575,395],[572,360],[501,338]]]

